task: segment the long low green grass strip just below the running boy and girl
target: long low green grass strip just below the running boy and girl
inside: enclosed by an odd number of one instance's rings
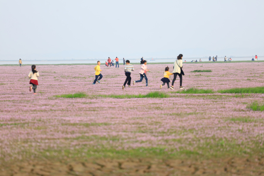
[[[168,98],[170,95],[165,94],[163,92],[149,92],[148,94],[142,95],[130,95],[130,94],[124,94],[124,95],[99,95],[99,97],[109,97],[109,98]]]

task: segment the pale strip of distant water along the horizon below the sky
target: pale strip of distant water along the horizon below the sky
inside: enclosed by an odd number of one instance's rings
[[[229,57],[227,57],[229,58]],[[187,62],[191,62],[192,60],[197,60],[199,62],[200,58],[183,58]],[[201,58],[202,61],[208,61],[208,58]],[[244,60],[251,60],[252,57],[233,57],[232,61],[244,61]],[[255,57],[254,57],[255,59]],[[123,64],[123,60],[119,59],[119,64]],[[131,63],[140,62],[140,59],[129,59]],[[148,62],[174,62],[176,58],[167,58],[167,59],[146,59]],[[218,57],[218,61],[224,61],[223,57]],[[264,60],[264,57],[259,57],[258,60]],[[22,60],[23,64],[91,64],[96,63],[98,60],[96,59],[89,59],[89,60]],[[100,60],[101,64],[104,64],[105,60]],[[0,65],[4,64],[14,64],[19,65],[18,60],[0,60]]]

